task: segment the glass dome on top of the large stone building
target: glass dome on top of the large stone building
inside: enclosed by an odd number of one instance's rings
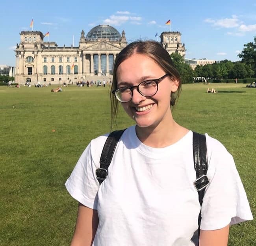
[[[98,25],[92,28],[85,37],[87,40],[96,41],[97,39],[109,39],[110,41],[119,41],[121,34],[115,28],[109,25]]]

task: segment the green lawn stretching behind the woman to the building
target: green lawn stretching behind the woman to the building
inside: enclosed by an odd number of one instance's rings
[[[206,93],[208,87],[219,93]],[[50,89],[0,87],[1,246],[69,245],[77,202],[64,183],[89,141],[109,132],[108,88]],[[256,89],[184,85],[173,114],[226,146],[255,216]],[[117,123],[119,129],[133,124],[122,110]],[[232,226],[228,245],[256,245],[256,221]]]

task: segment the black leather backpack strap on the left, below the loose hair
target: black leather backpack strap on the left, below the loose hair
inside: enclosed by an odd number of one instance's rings
[[[112,131],[104,144],[101,156],[100,156],[100,168],[96,169],[96,178],[98,179],[100,185],[108,176],[108,167],[111,163],[113,154],[115,152],[115,147],[119,141],[122,133],[126,129],[119,131]]]

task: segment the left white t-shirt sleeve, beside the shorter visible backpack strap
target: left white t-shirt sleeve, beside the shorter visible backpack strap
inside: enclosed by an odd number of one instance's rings
[[[92,158],[91,143],[79,158],[65,186],[70,195],[83,205],[97,209],[99,183]]]

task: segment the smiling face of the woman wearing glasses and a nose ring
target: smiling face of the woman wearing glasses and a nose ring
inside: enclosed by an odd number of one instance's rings
[[[133,54],[117,68],[117,88],[138,85],[150,79],[158,79],[165,71],[147,55]],[[143,96],[136,89],[130,102],[122,103],[126,113],[132,117],[139,127],[153,127],[166,122],[171,116],[171,92],[178,89],[178,82],[165,77],[158,84],[158,92],[154,96]],[[143,108],[144,107],[144,108]]]

